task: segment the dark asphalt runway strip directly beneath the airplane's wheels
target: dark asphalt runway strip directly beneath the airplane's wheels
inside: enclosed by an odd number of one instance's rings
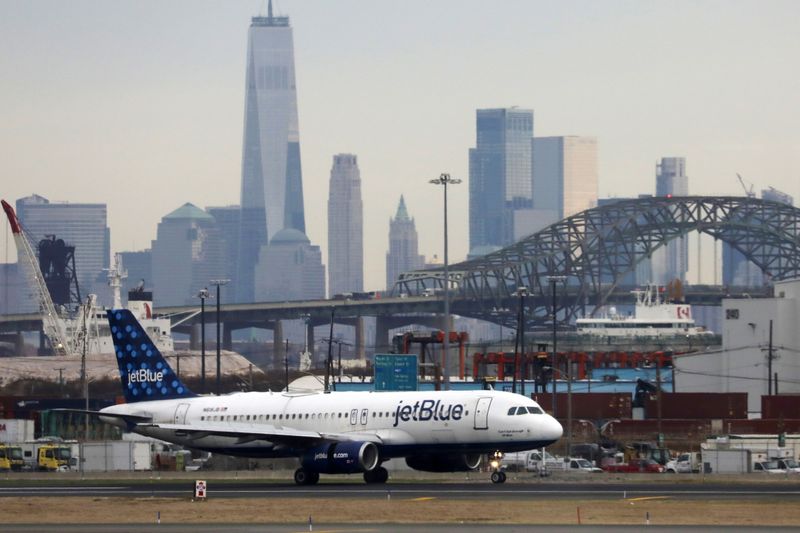
[[[311,487],[294,483],[207,480],[209,498],[447,498],[482,500],[547,499],[716,499],[800,501],[800,480],[719,482],[533,482],[492,485],[472,483],[387,483],[365,485],[348,482],[320,482]],[[1,497],[93,496],[93,497],[191,497],[194,481],[183,480],[97,480],[61,483],[8,481],[0,484]]]

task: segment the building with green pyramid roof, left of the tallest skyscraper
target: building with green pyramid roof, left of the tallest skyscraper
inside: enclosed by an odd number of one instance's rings
[[[158,223],[152,244],[156,306],[197,303],[197,293],[224,272],[222,235],[214,217],[186,203]]]

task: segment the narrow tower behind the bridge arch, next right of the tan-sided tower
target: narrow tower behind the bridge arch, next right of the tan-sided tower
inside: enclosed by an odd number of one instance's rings
[[[689,178],[686,176],[686,158],[662,157],[656,163],[656,197],[688,196]],[[668,284],[679,279],[686,281],[689,270],[689,239],[677,237],[656,250],[652,259],[653,280]]]

